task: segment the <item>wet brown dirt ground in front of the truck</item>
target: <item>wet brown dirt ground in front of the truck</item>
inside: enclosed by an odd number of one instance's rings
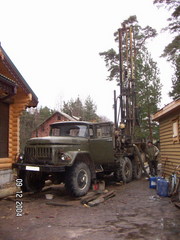
[[[70,198],[63,185],[24,195],[21,217],[16,216],[15,198],[0,200],[0,240],[180,239],[180,209],[170,198],[159,197],[145,178],[109,183],[106,189],[114,190],[115,197],[95,207]],[[54,199],[47,200],[47,193]],[[47,205],[49,201],[62,206]]]

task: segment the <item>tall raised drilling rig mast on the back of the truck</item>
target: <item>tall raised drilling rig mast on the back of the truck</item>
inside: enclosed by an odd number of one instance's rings
[[[128,157],[136,161],[147,174],[142,156],[144,144],[135,137],[139,127],[136,103],[135,59],[136,47],[133,27],[118,29],[119,41],[119,95],[114,91],[114,149],[117,158]]]

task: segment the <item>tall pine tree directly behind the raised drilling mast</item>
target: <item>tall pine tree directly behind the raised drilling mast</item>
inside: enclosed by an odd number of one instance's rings
[[[151,115],[158,110],[158,103],[161,99],[161,84],[159,79],[159,70],[156,62],[151,58],[146,48],[146,41],[157,35],[155,29],[150,26],[142,28],[138,25],[136,16],[130,16],[122,23],[122,27],[130,27],[133,25],[133,33],[135,46],[133,46],[136,59],[135,61],[135,84],[137,92],[138,117],[140,119],[140,127],[136,128],[137,138],[158,138],[157,126],[152,123]],[[115,41],[119,42],[118,32],[114,33]],[[125,41],[122,42],[123,58],[126,58]],[[108,80],[115,80],[119,84],[119,53],[114,49],[100,53],[104,58],[109,75]],[[123,62],[123,65],[126,63]]]

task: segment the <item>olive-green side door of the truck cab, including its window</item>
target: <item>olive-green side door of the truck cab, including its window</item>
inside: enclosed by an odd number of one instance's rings
[[[91,129],[90,129],[91,132]],[[90,153],[96,164],[108,164],[113,161],[112,124],[94,124],[90,134]]]

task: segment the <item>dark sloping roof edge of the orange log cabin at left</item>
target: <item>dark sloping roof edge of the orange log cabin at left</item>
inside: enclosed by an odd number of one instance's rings
[[[18,86],[20,86],[26,94],[32,94],[32,100],[28,107],[35,107],[38,104],[38,98],[33,90],[30,88],[28,83],[25,81],[21,73],[18,71],[14,63],[11,61],[5,50],[0,45],[0,59],[2,60],[1,63],[6,71],[12,76],[12,79],[16,82]],[[5,75],[5,74],[4,74]],[[8,76],[9,76],[8,75]],[[11,77],[10,77],[11,78]],[[11,80],[12,81],[12,80]]]

